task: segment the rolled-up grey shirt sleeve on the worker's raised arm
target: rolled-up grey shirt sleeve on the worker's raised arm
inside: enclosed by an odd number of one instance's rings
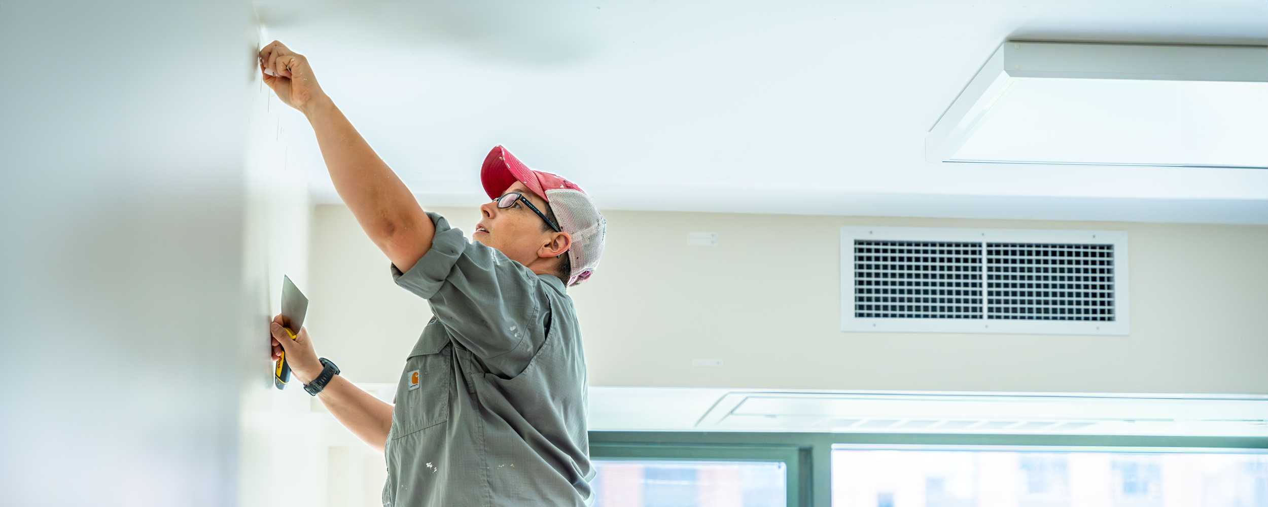
[[[534,336],[543,332],[536,324],[541,317],[541,280],[501,251],[468,242],[444,217],[427,215],[436,224],[431,250],[407,273],[393,265],[392,278],[427,299],[450,336],[477,356],[487,360],[511,355],[517,357],[506,357],[510,363],[526,364],[536,349],[534,342],[544,340]]]

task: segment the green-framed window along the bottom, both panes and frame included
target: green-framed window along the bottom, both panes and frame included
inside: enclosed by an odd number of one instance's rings
[[[591,431],[590,441],[598,507],[1268,507],[1264,436]]]

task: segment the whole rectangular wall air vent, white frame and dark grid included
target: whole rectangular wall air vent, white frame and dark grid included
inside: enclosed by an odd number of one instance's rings
[[[1122,231],[841,228],[841,328],[1127,335]]]

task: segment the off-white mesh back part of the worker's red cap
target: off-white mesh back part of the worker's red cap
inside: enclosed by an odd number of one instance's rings
[[[598,213],[598,207],[590,195],[581,190],[550,189],[547,190],[547,199],[555,219],[559,221],[559,228],[572,236],[572,247],[568,250],[572,273],[568,276],[568,285],[586,281],[595,274],[598,259],[604,256],[607,221]]]

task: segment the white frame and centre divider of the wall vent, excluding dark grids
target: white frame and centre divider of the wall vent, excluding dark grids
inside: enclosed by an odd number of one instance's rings
[[[1113,245],[1115,321],[1006,321],[981,318],[860,318],[855,317],[855,241],[928,241],[928,242],[1012,242],[1012,243],[1094,243]],[[985,261],[985,248],[980,257]],[[988,229],[942,227],[841,227],[841,331],[844,332],[921,332],[921,333],[989,333],[989,335],[1131,335],[1130,270],[1126,231],[1075,229]],[[987,266],[987,264],[979,264]],[[983,299],[988,280],[981,271]],[[1036,280],[1037,281],[1037,280]],[[987,307],[983,304],[983,307]]]

